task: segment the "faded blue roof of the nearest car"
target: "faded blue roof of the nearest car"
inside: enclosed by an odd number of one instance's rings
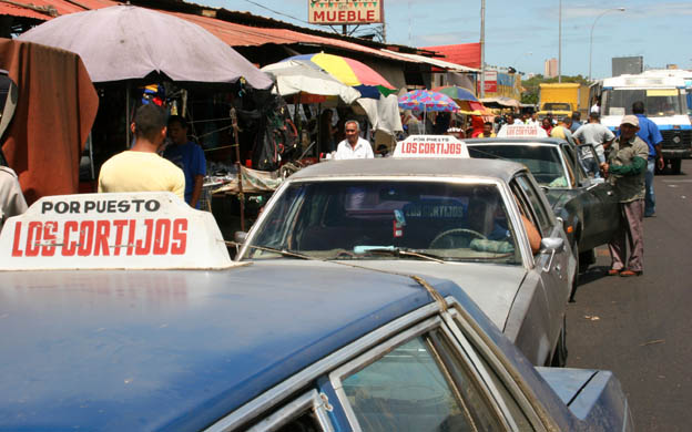
[[[199,430],[432,301],[410,278],[319,263],[0,272],[0,299],[2,431]]]

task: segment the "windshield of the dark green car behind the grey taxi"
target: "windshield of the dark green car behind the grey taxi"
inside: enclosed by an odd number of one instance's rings
[[[557,145],[469,144],[468,151],[471,157],[501,158],[523,164],[541,186],[569,187]]]

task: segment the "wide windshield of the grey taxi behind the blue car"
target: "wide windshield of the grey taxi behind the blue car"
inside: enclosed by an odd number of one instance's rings
[[[520,263],[496,184],[295,183],[267,212],[246,258]]]

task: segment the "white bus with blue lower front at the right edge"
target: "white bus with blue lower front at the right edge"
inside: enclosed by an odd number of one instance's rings
[[[663,136],[665,163],[673,173],[680,173],[681,160],[692,155],[685,80],[661,72],[607,78],[593,84],[591,91],[599,93],[601,123],[611,130],[620,125],[623,115],[632,114],[634,102],[643,102],[647,117],[659,126]]]

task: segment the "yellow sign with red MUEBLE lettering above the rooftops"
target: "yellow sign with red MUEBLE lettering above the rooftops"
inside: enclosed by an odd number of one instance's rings
[[[385,21],[383,0],[308,0],[311,24],[376,24]]]

